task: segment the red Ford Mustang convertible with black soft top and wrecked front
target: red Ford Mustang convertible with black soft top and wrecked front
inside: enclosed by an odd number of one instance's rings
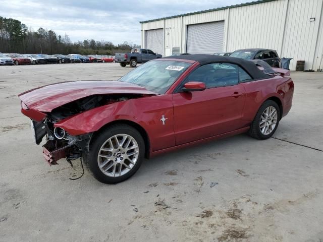
[[[289,71],[206,54],[154,59],[119,81],[75,81],[21,93],[49,164],[83,158],[103,183],[133,175],[144,157],[248,132],[271,137],[291,106]],[[261,70],[263,71],[261,71]]]

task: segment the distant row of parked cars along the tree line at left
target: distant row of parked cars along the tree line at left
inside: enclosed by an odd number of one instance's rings
[[[64,64],[64,63],[91,63],[115,62],[113,55],[81,55],[81,54],[18,54],[0,53],[0,65],[37,65],[37,64]]]

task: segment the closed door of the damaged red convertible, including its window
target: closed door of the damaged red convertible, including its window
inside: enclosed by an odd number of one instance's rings
[[[181,91],[190,81],[203,82],[206,89]],[[173,94],[176,145],[243,128],[244,102],[245,89],[239,83],[237,65],[213,63],[198,67]]]

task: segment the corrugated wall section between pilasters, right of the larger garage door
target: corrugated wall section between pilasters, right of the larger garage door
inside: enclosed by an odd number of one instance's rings
[[[274,1],[229,9],[227,51],[270,48],[279,52],[286,8],[287,1]]]

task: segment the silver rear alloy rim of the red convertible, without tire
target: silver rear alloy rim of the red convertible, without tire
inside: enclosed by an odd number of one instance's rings
[[[277,125],[278,114],[273,106],[269,106],[262,112],[260,116],[259,128],[263,135],[271,134]]]

